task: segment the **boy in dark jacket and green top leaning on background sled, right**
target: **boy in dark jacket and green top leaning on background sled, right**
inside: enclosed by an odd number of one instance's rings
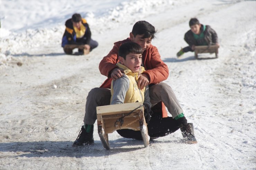
[[[193,52],[195,46],[219,46],[218,35],[210,26],[200,24],[199,20],[196,18],[190,19],[189,26],[190,30],[186,32],[184,36],[184,40],[189,46],[177,52],[177,57],[180,57],[185,52]]]

